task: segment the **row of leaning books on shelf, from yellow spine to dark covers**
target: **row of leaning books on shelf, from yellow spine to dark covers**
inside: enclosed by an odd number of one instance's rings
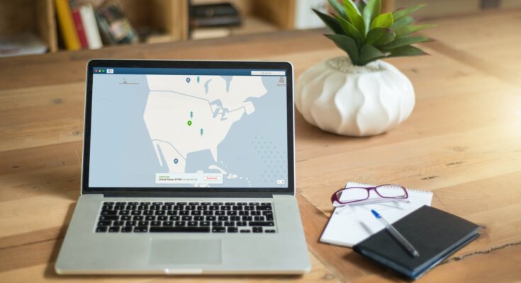
[[[67,50],[138,42],[138,34],[116,1],[106,1],[98,8],[89,3],[78,4],[74,0],[55,0],[55,3]]]

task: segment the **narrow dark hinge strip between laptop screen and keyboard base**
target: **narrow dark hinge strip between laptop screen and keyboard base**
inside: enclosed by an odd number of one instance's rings
[[[273,198],[273,193],[271,193],[271,192],[104,192],[103,197]]]

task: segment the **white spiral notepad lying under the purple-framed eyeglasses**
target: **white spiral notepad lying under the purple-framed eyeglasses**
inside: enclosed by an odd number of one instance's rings
[[[373,185],[362,183],[347,183],[346,187],[372,187]],[[429,205],[432,201],[432,192],[422,190],[407,189],[407,202],[381,202],[350,204],[344,207],[337,207],[331,219],[320,237],[323,243],[331,243],[338,246],[352,247],[364,241],[372,234],[384,229],[381,222],[371,214],[371,209],[379,212],[387,221],[393,223],[414,210]],[[371,192],[372,200],[374,192]],[[342,200],[342,196],[340,196]],[[376,198],[375,198],[375,201]]]

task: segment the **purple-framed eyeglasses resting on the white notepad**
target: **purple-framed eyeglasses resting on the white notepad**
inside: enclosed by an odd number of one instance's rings
[[[345,187],[337,190],[331,196],[331,203],[336,204],[351,204],[354,202],[362,202],[369,200],[371,190],[376,192],[380,198],[388,200],[403,200],[409,197],[405,187],[400,185],[386,184],[377,185],[376,187]]]

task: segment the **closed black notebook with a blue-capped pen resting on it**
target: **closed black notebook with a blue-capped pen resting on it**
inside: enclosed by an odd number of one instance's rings
[[[370,212],[368,212],[370,213]],[[381,212],[385,218],[385,212]],[[353,249],[391,270],[417,279],[456,250],[478,238],[478,225],[458,216],[424,205],[393,223],[420,253],[414,258],[383,229]]]

